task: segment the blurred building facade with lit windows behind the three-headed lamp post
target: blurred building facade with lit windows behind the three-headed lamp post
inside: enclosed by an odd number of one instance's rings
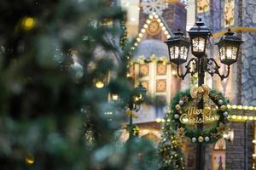
[[[195,77],[181,81],[176,66],[168,59],[164,41],[180,29],[185,33],[201,18],[212,31],[207,54],[218,59],[218,38],[230,28],[242,38],[241,54],[232,65],[230,77],[220,81],[219,77],[207,75],[207,85],[218,88],[230,99],[232,115],[230,127],[233,133],[216,144],[208,145],[205,169],[254,169],[256,166],[256,1],[254,0],[121,0],[127,9],[128,36],[136,37],[136,53],[130,63],[130,76],[147,88],[154,106],[143,105],[134,120],[140,127],[140,136],[160,140],[160,127],[166,107],[179,90],[189,88]],[[191,54],[189,54],[191,57]],[[226,68],[221,68],[223,72]],[[230,141],[232,140],[232,141]],[[195,147],[183,147],[188,169],[195,169]]]

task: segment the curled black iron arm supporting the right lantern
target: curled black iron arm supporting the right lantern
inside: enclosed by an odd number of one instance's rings
[[[213,65],[212,69],[211,68],[208,68],[209,65]],[[220,77],[221,80],[223,80],[224,78],[227,78],[230,76],[230,65],[228,65],[228,72],[226,75],[222,75],[220,74],[219,72],[219,68],[220,66],[218,65],[218,63],[216,62],[215,59],[207,59],[207,72],[213,76],[213,74],[217,74],[218,77]]]

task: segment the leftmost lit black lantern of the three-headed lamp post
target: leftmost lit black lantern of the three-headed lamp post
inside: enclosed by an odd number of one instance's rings
[[[169,50],[169,59],[176,65],[183,64],[188,59],[189,54],[189,38],[183,36],[183,32],[177,30],[174,32],[174,37],[166,41]]]

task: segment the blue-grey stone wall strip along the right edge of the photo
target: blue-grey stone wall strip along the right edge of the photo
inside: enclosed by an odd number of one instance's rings
[[[256,1],[242,3],[242,26],[256,28]],[[256,32],[242,32],[242,95],[244,105],[256,105]]]

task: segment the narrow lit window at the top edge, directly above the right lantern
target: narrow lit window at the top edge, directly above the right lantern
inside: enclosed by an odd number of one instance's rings
[[[224,27],[235,25],[235,0],[225,0]]]

